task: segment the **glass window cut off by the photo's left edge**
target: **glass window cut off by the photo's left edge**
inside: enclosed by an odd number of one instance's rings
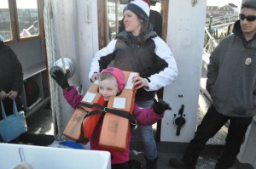
[[[12,40],[12,29],[10,22],[9,3],[8,0],[0,1],[0,40]]]

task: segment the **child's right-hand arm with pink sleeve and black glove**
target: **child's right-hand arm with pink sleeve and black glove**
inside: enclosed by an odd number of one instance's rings
[[[138,124],[148,126],[163,118],[166,110],[172,110],[169,104],[163,100],[156,101],[154,99],[154,104],[150,108],[139,108],[135,104],[132,116],[135,117]]]

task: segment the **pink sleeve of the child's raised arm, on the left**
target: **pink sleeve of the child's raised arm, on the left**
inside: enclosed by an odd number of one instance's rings
[[[75,87],[72,87],[70,91],[63,89],[63,96],[67,100],[67,103],[73,107],[73,109],[76,109],[84,98],[83,95],[79,94]]]

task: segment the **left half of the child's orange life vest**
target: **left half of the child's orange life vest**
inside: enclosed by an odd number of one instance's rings
[[[97,81],[91,84],[78,108],[73,112],[63,132],[67,138],[81,144],[88,143],[102,115],[102,110],[94,104],[106,106],[102,95],[98,93],[98,88]]]

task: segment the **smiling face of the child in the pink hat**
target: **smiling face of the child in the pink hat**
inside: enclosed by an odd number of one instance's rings
[[[111,96],[116,96],[119,93],[116,79],[108,78],[103,81],[99,81],[99,93],[102,94],[105,101],[108,101]]]

